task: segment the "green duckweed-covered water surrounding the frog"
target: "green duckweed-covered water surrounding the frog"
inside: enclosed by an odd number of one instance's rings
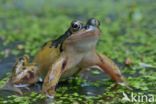
[[[93,93],[97,88],[103,89],[102,94],[81,94],[83,90],[75,90],[75,87],[81,86],[80,89],[83,89],[82,84],[86,82],[76,78],[71,81],[76,84],[58,88],[55,102],[123,103],[123,91],[156,95],[155,0],[1,0],[0,83],[6,82],[5,75],[10,72],[17,57],[24,54],[34,57],[44,42],[63,34],[72,20],[85,22],[92,17],[101,22],[102,33],[97,50],[119,65],[134,90],[127,91],[119,87],[112,91],[109,88],[113,82],[94,70],[87,74],[90,76],[87,80],[100,75],[88,83],[94,87]],[[75,92],[69,93],[67,87]],[[36,97],[37,94],[33,94],[24,97],[11,96],[7,101],[0,98],[0,101],[10,104],[24,101],[31,104],[35,102],[33,99],[40,99]]]

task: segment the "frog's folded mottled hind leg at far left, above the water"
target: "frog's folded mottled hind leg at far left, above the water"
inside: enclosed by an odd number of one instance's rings
[[[37,81],[37,70],[38,66],[34,63],[30,64],[28,56],[23,56],[16,61],[10,81],[17,86],[32,84]]]

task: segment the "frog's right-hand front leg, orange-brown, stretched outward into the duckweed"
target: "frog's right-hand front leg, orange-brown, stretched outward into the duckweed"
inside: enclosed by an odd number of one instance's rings
[[[83,64],[90,66],[98,66],[99,69],[107,73],[117,84],[125,84],[125,79],[122,76],[117,65],[112,60],[102,54],[93,52],[86,56],[83,60]]]

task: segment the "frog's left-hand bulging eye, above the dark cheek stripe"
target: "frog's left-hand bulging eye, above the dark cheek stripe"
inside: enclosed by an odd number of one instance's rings
[[[80,21],[73,21],[71,23],[72,32],[76,32],[82,28],[82,23]]]

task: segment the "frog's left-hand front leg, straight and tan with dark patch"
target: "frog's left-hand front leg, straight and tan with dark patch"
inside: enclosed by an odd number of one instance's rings
[[[61,57],[49,69],[42,87],[42,92],[47,96],[53,96],[55,94],[55,87],[61,77],[62,72],[66,69],[66,65],[67,59]]]

